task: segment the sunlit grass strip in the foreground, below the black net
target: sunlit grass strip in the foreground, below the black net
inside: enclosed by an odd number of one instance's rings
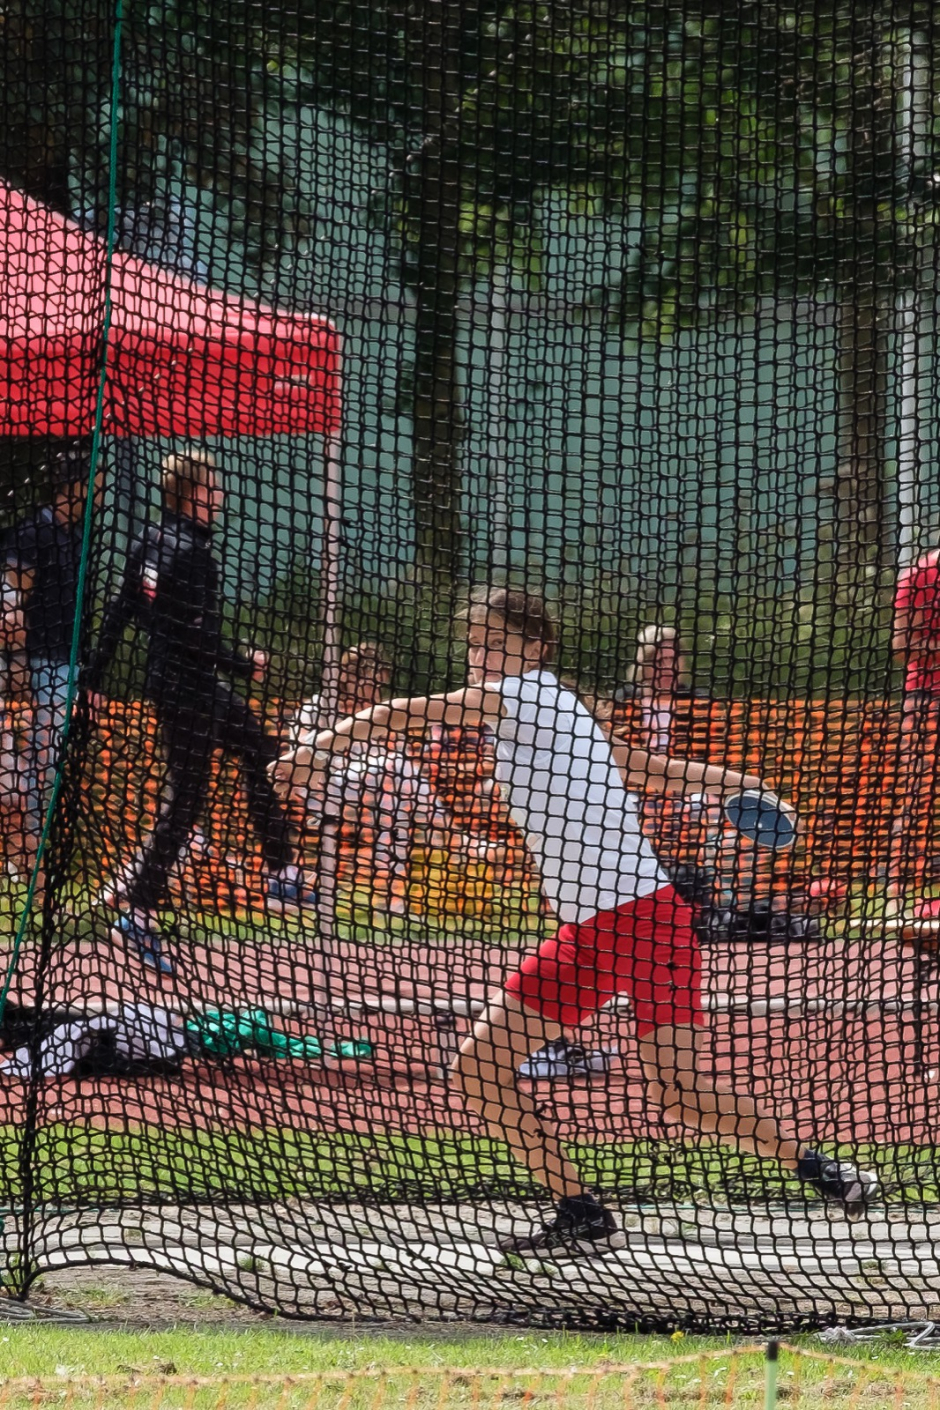
[[[762,1348],[705,1337],[574,1334],[468,1335],[410,1334],[393,1338],[362,1331],[289,1335],[275,1328],[245,1331],[83,1332],[62,1328],[10,1328],[0,1335],[7,1378],[4,1410],[66,1403],[76,1410],[241,1410],[278,1406],[300,1410],[438,1410],[466,1406],[496,1410],[513,1403],[567,1410],[653,1410],[662,1406],[762,1404]],[[940,1355],[910,1354],[891,1345],[855,1348],[847,1356],[805,1355],[785,1348],[781,1402],[833,1410],[860,1404],[936,1404]],[[292,1376],[323,1375],[290,1383]],[[269,1376],[251,1385],[245,1376]],[[97,1378],[117,1376],[101,1400]],[[165,1376],[166,1380],[159,1379]],[[230,1382],[220,1380],[233,1376]],[[87,1378],[87,1379],[86,1379]],[[94,1379],[92,1379],[94,1378]],[[183,1378],[211,1378],[186,1385]]]

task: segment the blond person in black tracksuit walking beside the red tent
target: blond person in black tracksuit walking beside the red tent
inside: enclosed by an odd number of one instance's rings
[[[268,778],[278,746],[248,702],[220,680],[220,673],[258,680],[268,656],[265,651],[240,656],[223,639],[218,564],[211,544],[223,495],[213,458],[196,450],[169,455],[163,461],[162,489],[163,516],[131,548],[121,589],[106,609],[85,684],[89,692],[97,688],[124,629],[137,622],[148,636],[145,689],[163,737],[168,787],[154,830],[109,900],[124,912],[116,938],[132,940],[145,964],[169,974],[172,966],[161,945],[155,912],[165,897],[168,874],[204,808],[213,750],[223,749],[241,764],[251,821],[268,866],[269,902],[278,909],[293,909],[313,905],[316,897],[304,891],[300,869],[293,863],[287,815]]]

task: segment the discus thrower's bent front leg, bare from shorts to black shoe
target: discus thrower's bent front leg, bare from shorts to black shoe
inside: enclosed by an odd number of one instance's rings
[[[519,1063],[561,1035],[558,1024],[524,1008],[512,994],[493,1000],[454,1062],[454,1084],[496,1139],[555,1197],[579,1196],[585,1184],[564,1153],[551,1121],[519,1090]]]

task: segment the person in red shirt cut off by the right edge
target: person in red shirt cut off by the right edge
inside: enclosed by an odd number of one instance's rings
[[[912,857],[920,854],[912,823],[933,815],[940,729],[940,548],[898,577],[891,647],[905,667],[896,798],[888,854],[889,911],[903,908]],[[922,901],[917,919],[940,916],[940,900]]]

